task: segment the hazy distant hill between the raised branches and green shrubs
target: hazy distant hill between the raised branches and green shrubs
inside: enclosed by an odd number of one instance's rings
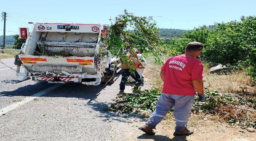
[[[160,36],[164,38],[178,37],[178,35],[187,32],[187,30],[183,30],[183,29],[159,29],[159,30],[160,30]]]

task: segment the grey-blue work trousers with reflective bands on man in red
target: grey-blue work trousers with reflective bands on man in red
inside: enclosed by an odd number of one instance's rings
[[[183,130],[187,127],[195,95],[183,96],[162,93],[156,104],[156,110],[152,113],[147,125],[156,127],[169,110],[174,106],[173,115],[176,120],[175,130]]]

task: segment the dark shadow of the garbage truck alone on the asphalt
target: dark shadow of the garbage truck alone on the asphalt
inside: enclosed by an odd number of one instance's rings
[[[0,92],[0,96],[32,96],[33,94],[40,92],[41,90],[44,90],[48,87],[51,87],[52,85],[55,84],[47,82],[37,82],[33,85],[19,87],[16,90]],[[42,97],[79,98],[90,99],[90,101],[92,101],[96,99],[98,94],[100,94],[100,91],[105,89],[105,87],[108,85],[111,84],[105,85],[105,83],[102,83],[98,86],[88,86],[81,83],[66,83],[56,88],[55,90],[44,94]]]

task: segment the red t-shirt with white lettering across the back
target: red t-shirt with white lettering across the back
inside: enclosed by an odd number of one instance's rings
[[[192,80],[203,78],[203,64],[194,57],[179,55],[169,58],[161,67],[165,72],[163,93],[177,95],[195,95]]]

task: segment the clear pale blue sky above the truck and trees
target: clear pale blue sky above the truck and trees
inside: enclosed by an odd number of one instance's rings
[[[239,20],[256,15],[256,0],[1,0],[0,11],[8,12],[6,34],[28,22],[110,24],[109,18],[123,10],[154,17],[160,28],[193,29],[214,22]],[[17,13],[17,14],[13,14]],[[20,15],[24,14],[24,15]],[[26,16],[29,15],[29,16]],[[39,18],[43,17],[43,18]],[[34,20],[33,20],[34,19]],[[24,25],[25,24],[25,25]],[[0,22],[0,35],[3,35]]]

